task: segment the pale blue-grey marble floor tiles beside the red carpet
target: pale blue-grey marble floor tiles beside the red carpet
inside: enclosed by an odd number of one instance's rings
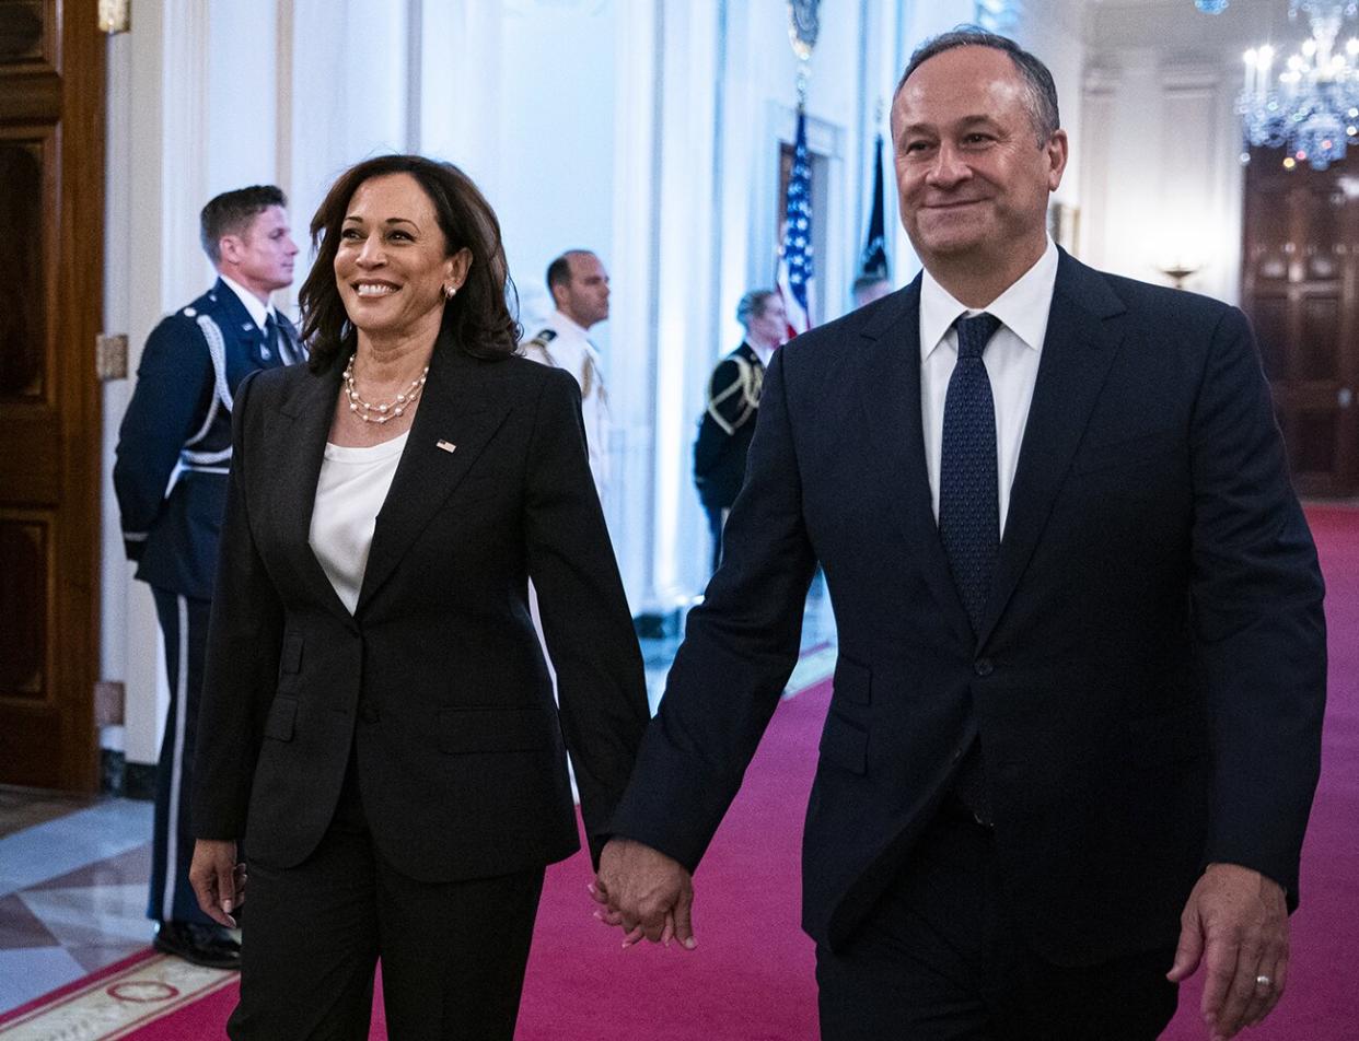
[[[644,639],[651,706],[678,637]],[[834,668],[834,620],[819,577],[787,695]],[[0,1015],[145,950],[151,803],[0,786]]]

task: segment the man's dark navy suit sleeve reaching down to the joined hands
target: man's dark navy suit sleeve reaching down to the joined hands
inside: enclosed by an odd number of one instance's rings
[[[802,516],[786,353],[760,400],[746,485],[724,533],[723,566],[689,613],[660,711],[616,816],[693,870],[735,798],[798,661],[815,556]]]

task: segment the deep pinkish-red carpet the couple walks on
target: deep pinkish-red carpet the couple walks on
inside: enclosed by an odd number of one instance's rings
[[[1250,1041],[1355,1041],[1359,1011],[1359,510],[1309,510],[1328,582],[1330,702],[1321,787],[1292,920],[1288,995]],[[548,873],[519,1041],[813,1041],[811,942],[798,930],[798,844],[829,684],[786,702],[696,878],[699,950],[621,950],[591,917],[583,855]],[[235,989],[139,1030],[222,1037]],[[1162,1041],[1204,1041],[1199,984]],[[372,1037],[386,1037],[381,1006]]]

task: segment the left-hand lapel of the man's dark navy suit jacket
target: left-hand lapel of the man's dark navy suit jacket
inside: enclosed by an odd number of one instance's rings
[[[893,490],[896,521],[917,559],[925,584],[961,639],[972,643],[972,623],[958,599],[939,539],[925,467],[920,417],[920,277],[901,290],[902,307],[885,311],[862,335],[867,360],[860,381],[863,419],[878,453],[885,487]]]

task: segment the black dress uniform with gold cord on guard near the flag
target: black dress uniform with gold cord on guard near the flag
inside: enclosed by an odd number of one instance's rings
[[[708,407],[693,445],[693,480],[712,531],[712,570],[722,562],[722,528],[746,478],[746,452],[756,432],[764,362],[742,343],[712,371]]]

